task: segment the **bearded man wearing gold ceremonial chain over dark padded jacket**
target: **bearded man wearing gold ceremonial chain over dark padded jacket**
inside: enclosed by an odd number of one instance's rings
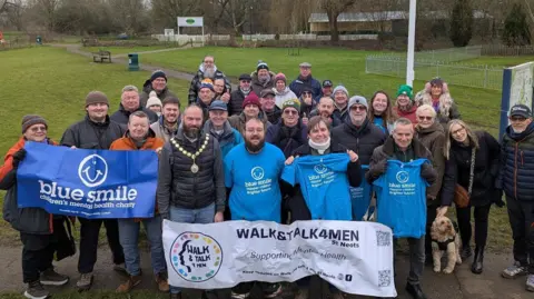
[[[201,133],[201,126],[202,109],[187,107],[177,134],[161,149],[157,200],[164,219],[182,223],[224,220],[222,155],[217,139]],[[181,299],[181,290],[171,286],[170,298]]]

